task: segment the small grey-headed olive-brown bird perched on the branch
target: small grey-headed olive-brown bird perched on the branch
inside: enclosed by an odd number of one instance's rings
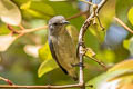
[[[55,16],[49,20],[49,47],[53,59],[64,73],[78,80],[75,65],[79,63],[76,57],[76,46],[65,26],[69,21],[63,16]]]

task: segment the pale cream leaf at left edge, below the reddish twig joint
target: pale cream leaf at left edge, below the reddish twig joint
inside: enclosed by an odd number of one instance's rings
[[[12,34],[0,36],[0,51],[6,51],[16,39]]]

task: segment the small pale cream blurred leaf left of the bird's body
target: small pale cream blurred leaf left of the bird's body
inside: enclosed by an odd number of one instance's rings
[[[24,51],[27,55],[32,56],[34,58],[39,57],[38,50],[40,49],[41,46],[33,46],[33,44],[25,44],[24,46]]]

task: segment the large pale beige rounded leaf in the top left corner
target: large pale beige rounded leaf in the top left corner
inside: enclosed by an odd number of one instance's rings
[[[21,22],[20,10],[10,0],[0,0],[0,18],[3,22],[12,26],[19,26]]]

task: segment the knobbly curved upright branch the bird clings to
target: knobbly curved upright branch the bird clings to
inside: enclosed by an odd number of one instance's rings
[[[100,9],[104,6],[104,3],[108,0],[102,0],[99,4],[98,8],[95,9],[95,12],[99,13]],[[83,26],[81,27],[80,33],[79,33],[79,47],[78,47],[78,52],[80,57],[80,63],[83,63],[83,56],[84,56],[84,33],[86,32],[88,27],[91,24],[92,19],[94,18],[94,12],[91,13],[91,16],[85,20]],[[83,67],[80,67],[80,83],[84,85],[83,80]]]

